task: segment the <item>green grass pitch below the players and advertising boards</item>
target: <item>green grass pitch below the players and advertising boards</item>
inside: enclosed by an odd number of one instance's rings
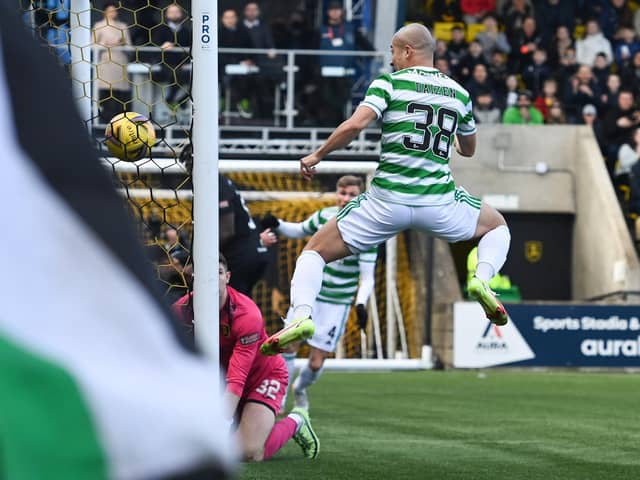
[[[513,370],[325,373],[320,456],[295,442],[242,480],[640,478],[640,377]]]

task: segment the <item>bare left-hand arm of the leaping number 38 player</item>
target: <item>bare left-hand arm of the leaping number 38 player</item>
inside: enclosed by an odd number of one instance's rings
[[[318,150],[300,160],[302,176],[308,180],[313,178],[316,174],[315,166],[324,157],[349,145],[376,118],[378,118],[376,112],[366,105],[360,105],[350,118],[338,125]]]

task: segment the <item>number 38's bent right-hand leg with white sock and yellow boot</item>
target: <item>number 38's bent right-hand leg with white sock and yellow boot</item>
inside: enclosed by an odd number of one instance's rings
[[[489,288],[489,280],[500,271],[507,259],[511,234],[500,212],[486,203],[480,208],[475,231],[478,243],[478,266],[474,278],[469,281],[469,296],[482,305],[487,318],[497,325],[509,321],[504,305]]]

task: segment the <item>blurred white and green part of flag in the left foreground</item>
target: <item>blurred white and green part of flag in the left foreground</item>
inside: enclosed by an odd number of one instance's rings
[[[73,169],[80,161],[97,165],[96,155],[53,149],[50,177],[26,155],[6,75],[22,72],[4,65],[0,55],[4,195],[19,201],[4,211],[10,228],[0,248],[11,272],[0,277],[0,478],[161,479],[229,467],[235,447],[216,364],[179,344],[168,312],[133,267],[70,207],[76,197],[51,181],[69,176],[64,188],[101,205],[88,188],[94,183],[83,182],[91,179],[75,178]],[[84,141],[79,122],[69,118],[67,127]],[[20,133],[56,138],[50,130]],[[118,213],[95,211],[124,232]]]

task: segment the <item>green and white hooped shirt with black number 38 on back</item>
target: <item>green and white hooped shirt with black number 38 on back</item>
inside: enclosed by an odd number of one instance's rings
[[[374,80],[362,105],[382,118],[371,193],[405,205],[452,202],[449,160],[455,134],[476,131],[469,93],[435,68],[412,67]]]

